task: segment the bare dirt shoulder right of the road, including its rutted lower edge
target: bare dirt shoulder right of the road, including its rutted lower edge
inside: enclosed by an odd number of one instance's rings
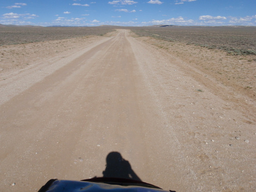
[[[243,108],[252,121],[256,121],[256,56],[229,55],[224,51],[206,49],[182,42],[168,42],[151,37],[138,39],[153,45],[162,53],[175,57],[178,66],[198,81],[211,88],[213,93]],[[211,82],[216,83],[212,84]],[[218,87],[216,87],[218,84]],[[250,121],[248,123],[251,123]]]

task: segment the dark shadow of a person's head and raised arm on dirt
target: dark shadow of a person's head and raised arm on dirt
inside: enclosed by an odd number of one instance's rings
[[[132,169],[129,161],[123,159],[119,152],[111,152],[106,156],[106,168],[102,174],[105,178],[123,178],[141,181]]]

